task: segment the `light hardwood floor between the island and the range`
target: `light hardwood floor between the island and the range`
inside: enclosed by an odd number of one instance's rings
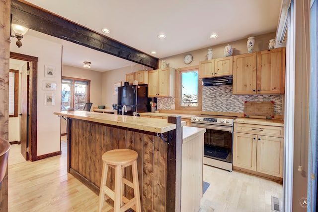
[[[201,199],[214,212],[271,212],[271,196],[283,198],[283,185],[239,171],[204,165],[203,180],[210,183]]]

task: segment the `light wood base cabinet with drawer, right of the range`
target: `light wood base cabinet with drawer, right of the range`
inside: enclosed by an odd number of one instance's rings
[[[233,166],[283,177],[284,127],[234,123]]]

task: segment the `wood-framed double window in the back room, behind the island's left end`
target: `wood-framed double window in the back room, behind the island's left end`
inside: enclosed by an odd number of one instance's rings
[[[90,80],[62,77],[61,110],[83,109],[89,102]]]

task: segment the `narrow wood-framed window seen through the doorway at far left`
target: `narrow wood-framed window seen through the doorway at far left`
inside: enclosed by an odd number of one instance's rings
[[[9,117],[18,116],[19,71],[9,71]]]

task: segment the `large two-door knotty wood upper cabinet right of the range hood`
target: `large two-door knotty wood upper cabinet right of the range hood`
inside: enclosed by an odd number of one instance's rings
[[[233,94],[283,94],[285,48],[234,56]]]

